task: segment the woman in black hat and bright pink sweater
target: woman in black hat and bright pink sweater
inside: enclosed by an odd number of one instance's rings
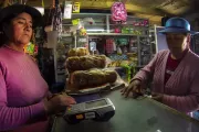
[[[0,11],[3,35],[0,37],[0,131],[39,122],[75,103],[66,95],[50,99],[48,85],[36,64],[23,52],[41,20],[41,13],[29,6],[13,4]],[[36,128],[41,129],[38,125],[28,131]]]

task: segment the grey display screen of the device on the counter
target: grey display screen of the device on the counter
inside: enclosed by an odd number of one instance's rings
[[[85,103],[86,109],[95,108],[95,107],[101,107],[107,105],[105,99],[97,100],[97,101],[91,101]]]

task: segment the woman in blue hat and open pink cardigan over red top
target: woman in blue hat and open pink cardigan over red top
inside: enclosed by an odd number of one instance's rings
[[[199,108],[199,56],[189,50],[190,24],[182,18],[171,18],[165,30],[168,51],[161,51],[140,69],[129,86],[122,90],[128,96],[142,92],[143,86],[153,80],[153,99],[181,112]]]

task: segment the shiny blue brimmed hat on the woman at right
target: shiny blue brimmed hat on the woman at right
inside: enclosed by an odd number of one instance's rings
[[[197,34],[198,32],[190,30],[189,22],[184,18],[171,18],[166,22],[165,29],[159,31],[159,33],[190,33]]]

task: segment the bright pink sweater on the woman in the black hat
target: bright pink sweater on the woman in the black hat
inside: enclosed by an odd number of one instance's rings
[[[0,131],[11,130],[45,116],[42,99],[48,85],[30,56],[0,48]]]

